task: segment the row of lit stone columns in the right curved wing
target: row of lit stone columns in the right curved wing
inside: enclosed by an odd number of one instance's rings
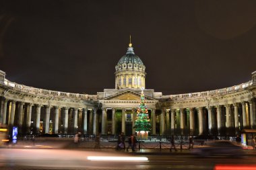
[[[255,128],[255,101],[162,110],[160,134],[239,134]]]

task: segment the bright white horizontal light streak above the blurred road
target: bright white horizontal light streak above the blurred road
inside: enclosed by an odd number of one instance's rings
[[[90,161],[148,161],[147,157],[87,157]]]

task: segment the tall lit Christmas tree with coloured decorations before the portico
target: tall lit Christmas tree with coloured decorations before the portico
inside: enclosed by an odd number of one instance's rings
[[[148,138],[148,132],[151,130],[151,124],[150,124],[150,118],[148,117],[148,109],[146,108],[146,105],[144,103],[145,96],[143,93],[143,89],[141,90],[140,95],[140,104],[139,108],[137,108],[137,116],[135,120],[135,131],[137,132],[137,138],[138,139],[147,139]]]

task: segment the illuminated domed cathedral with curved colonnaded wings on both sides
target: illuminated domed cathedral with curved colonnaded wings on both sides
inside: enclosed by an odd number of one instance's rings
[[[132,44],[115,66],[115,89],[96,95],[28,87],[0,71],[0,124],[19,134],[135,134],[136,110],[145,88],[146,66]],[[162,95],[144,89],[150,136],[230,135],[256,128],[256,71],[251,80],[223,89]]]

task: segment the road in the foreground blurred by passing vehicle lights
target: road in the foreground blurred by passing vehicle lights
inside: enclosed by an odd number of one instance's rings
[[[96,157],[89,160],[88,157]],[[115,161],[123,158],[125,161]],[[140,160],[148,158],[148,161]],[[102,159],[107,159],[102,161]],[[198,158],[189,153],[125,153],[68,149],[1,148],[0,169],[214,169],[215,165],[254,165],[255,155]]]

